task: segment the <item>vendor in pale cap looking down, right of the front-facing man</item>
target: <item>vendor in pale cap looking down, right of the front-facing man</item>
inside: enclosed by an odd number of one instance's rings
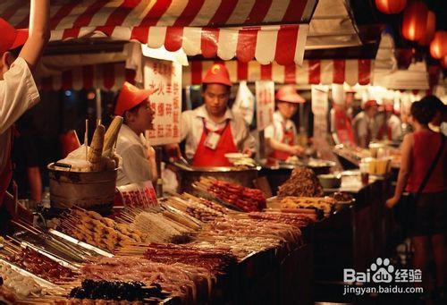
[[[291,117],[297,112],[299,103],[305,102],[292,85],[283,86],[276,93],[274,122],[264,130],[267,156],[271,160],[285,161],[288,157],[303,154],[304,148],[297,145],[297,128]]]

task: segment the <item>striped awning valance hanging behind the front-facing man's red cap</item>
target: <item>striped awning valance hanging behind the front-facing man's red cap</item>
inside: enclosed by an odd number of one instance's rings
[[[201,84],[202,78],[213,61],[191,61],[183,68],[183,86]],[[335,59],[305,60],[301,66],[291,64],[259,64],[257,62],[241,63],[239,61],[223,62],[230,72],[233,82],[240,80],[274,80],[276,83],[298,85],[333,83],[350,85],[356,83],[367,85],[372,81],[374,61],[369,59]]]

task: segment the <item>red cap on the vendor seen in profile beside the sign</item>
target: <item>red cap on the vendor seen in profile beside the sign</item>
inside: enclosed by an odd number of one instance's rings
[[[118,102],[114,108],[115,115],[122,115],[125,111],[144,102],[156,89],[138,89],[130,82],[124,82]]]

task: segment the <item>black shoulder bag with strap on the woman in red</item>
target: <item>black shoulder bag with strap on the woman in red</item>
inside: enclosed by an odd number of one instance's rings
[[[439,159],[443,155],[445,137],[443,136],[442,133],[441,133],[441,139],[442,139],[441,146],[436,156],[434,157],[432,165],[430,165],[430,168],[428,168],[424,180],[419,185],[417,193],[414,195],[413,194],[402,195],[401,200],[392,208],[392,214],[394,216],[394,220],[396,221],[397,225],[401,227],[405,237],[409,235],[408,234],[409,228],[412,227],[412,225],[414,225],[417,201],[419,200],[422,191],[424,191],[424,189],[426,188],[426,183],[428,183],[428,181],[430,180],[430,177],[432,176],[434,168],[439,162]]]

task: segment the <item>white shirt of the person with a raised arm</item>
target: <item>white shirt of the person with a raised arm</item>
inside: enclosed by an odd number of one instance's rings
[[[30,67],[19,57],[4,73],[4,80],[0,80],[0,173],[10,157],[11,126],[39,100]]]

